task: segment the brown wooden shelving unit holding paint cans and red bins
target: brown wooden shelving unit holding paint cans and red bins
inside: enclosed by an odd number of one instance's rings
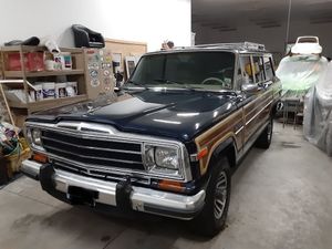
[[[86,61],[85,61],[85,49],[83,48],[60,48],[61,52],[69,52],[72,56],[72,70],[59,70],[59,71],[39,71],[30,72],[25,70],[12,71],[7,70],[10,60],[10,54],[15,53],[20,55],[20,66],[23,69],[22,55],[29,52],[44,52],[44,59],[51,60],[51,53],[45,46],[29,46],[29,45],[13,45],[13,46],[0,46],[0,74],[4,80],[21,80],[22,82],[13,83],[8,82],[6,90],[21,90],[24,97],[29,96],[31,85],[35,82],[77,82],[77,91],[80,95],[73,97],[62,97],[62,98],[48,98],[37,102],[22,103],[19,100],[11,98],[9,101],[9,106],[11,107],[14,115],[19,116],[20,120],[24,120],[27,115],[35,112],[52,110],[56,107],[62,107],[65,105],[76,104],[82,101],[87,101],[91,98],[89,93],[91,85],[86,81]],[[17,61],[19,63],[19,61]],[[56,76],[68,76],[69,79],[56,79]],[[21,122],[22,123],[22,122]]]

